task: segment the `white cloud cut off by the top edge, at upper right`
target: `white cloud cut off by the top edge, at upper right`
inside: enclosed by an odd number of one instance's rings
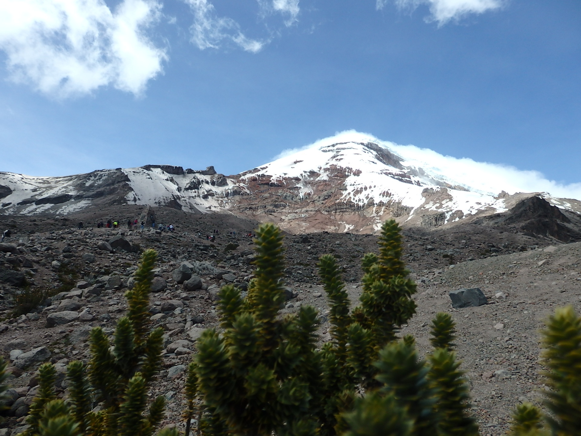
[[[394,0],[401,9],[415,9],[419,5],[428,5],[432,14],[429,21],[436,21],[440,26],[451,20],[460,20],[471,13],[483,13],[499,9],[504,0]],[[388,0],[376,0],[377,9],[382,9]]]

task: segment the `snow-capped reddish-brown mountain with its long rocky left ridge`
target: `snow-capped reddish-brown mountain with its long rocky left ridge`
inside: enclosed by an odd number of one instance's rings
[[[437,227],[503,213],[533,195],[581,212],[577,200],[517,193],[492,166],[471,162],[346,132],[234,176],[167,165],[67,177],[0,173],[0,210],[65,215],[95,205],[170,206],[271,220],[300,233],[368,232],[388,217]]]

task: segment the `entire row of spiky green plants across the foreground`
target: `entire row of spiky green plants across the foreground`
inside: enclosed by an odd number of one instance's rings
[[[432,321],[433,350],[420,358],[399,328],[415,313],[415,284],[401,261],[400,228],[382,226],[379,253],[362,259],[360,304],[350,309],[340,269],[321,256],[319,273],[330,305],[332,340],[317,348],[317,310],[303,305],[279,315],[284,297],[281,231],[256,231],[255,278],[246,295],[220,291],[220,328],[198,339],[185,386],[185,434],[203,436],[478,435],[469,388],[454,352],[454,322]],[[142,256],[128,291],[127,316],[112,341],[91,332],[91,359],[71,362],[66,399],[56,398],[55,367],[43,364],[26,436],[144,435],[156,433],[164,397],[149,389],[161,366],[163,330],[150,329],[149,291],[155,251]],[[530,403],[515,410],[511,433],[581,435],[581,317],[557,309],[543,331],[551,391],[547,414]],[[5,381],[0,365],[0,395]],[[191,423],[196,423],[191,428]],[[157,433],[177,436],[176,428]]]

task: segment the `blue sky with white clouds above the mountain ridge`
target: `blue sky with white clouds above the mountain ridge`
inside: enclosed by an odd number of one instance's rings
[[[0,4],[2,171],[235,174],[355,129],[581,181],[578,0],[61,3]]]

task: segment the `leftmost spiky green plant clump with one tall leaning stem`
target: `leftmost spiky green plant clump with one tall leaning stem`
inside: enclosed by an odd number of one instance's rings
[[[163,419],[164,397],[148,405],[147,392],[160,369],[163,329],[149,328],[149,292],[157,254],[145,251],[126,292],[127,316],[117,321],[111,341],[102,328],[91,330],[88,365],[67,367],[69,401],[53,402],[55,369],[40,367],[40,389],[31,406],[28,435],[87,434],[149,436]],[[99,405],[99,409],[95,406]],[[42,418],[44,416],[44,418]],[[42,426],[40,420],[44,419]],[[167,432],[166,432],[167,433]]]

